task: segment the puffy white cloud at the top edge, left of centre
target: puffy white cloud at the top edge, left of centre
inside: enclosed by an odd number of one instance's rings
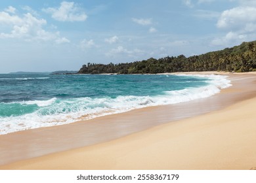
[[[54,20],[61,22],[82,22],[87,19],[87,15],[74,2],[63,1],[58,8],[44,8],[44,12],[52,14]]]

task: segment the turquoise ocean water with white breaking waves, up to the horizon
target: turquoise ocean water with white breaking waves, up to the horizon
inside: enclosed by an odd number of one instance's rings
[[[220,75],[0,75],[0,135],[135,108],[175,105],[230,86]]]

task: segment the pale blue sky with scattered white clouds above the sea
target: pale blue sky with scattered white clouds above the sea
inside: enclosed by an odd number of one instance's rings
[[[255,0],[0,3],[0,73],[188,57],[255,40]]]

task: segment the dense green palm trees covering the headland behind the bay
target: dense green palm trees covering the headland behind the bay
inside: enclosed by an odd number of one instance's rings
[[[83,65],[79,74],[156,74],[189,71],[256,71],[256,41],[243,42],[239,46],[225,48],[216,52],[208,52],[199,56],[150,58],[133,63],[109,63]]]

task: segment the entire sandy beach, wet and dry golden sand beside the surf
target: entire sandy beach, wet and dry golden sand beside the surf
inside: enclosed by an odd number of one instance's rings
[[[181,73],[184,74],[184,73]],[[256,169],[256,74],[188,103],[0,135],[0,169]]]

